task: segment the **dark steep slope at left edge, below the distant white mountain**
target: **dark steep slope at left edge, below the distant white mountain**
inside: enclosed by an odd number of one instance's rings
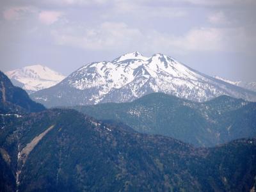
[[[22,88],[13,86],[12,82],[0,71],[0,113],[27,113],[44,110],[42,104],[31,100]]]

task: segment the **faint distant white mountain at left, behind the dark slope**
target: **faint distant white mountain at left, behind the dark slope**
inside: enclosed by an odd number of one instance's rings
[[[49,88],[60,83],[65,76],[42,65],[31,65],[5,72],[15,86],[20,86],[28,93]]]

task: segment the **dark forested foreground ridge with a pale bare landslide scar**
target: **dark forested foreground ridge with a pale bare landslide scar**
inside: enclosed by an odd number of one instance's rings
[[[76,121],[74,121],[76,119]],[[73,110],[0,129],[1,191],[250,191],[256,140],[194,148]]]

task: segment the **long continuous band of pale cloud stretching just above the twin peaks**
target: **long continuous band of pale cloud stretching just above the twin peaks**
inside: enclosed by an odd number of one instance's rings
[[[59,45],[87,50],[140,50],[144,52],[247,51],[247,42],[256,42],[243,28],[196,28],[184,35],[130,28],[122,22],[104,22],[97,28],[68,25],[52,31]]]

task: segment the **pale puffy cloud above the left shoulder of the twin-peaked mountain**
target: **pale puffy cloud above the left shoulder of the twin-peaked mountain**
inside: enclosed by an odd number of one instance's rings
[[[141,31],[122,22],[104,22],[97,28],[67,26],[52,31],[60,45],[72,45],[90,50],[120,49],[138,43],[143,38]]]

